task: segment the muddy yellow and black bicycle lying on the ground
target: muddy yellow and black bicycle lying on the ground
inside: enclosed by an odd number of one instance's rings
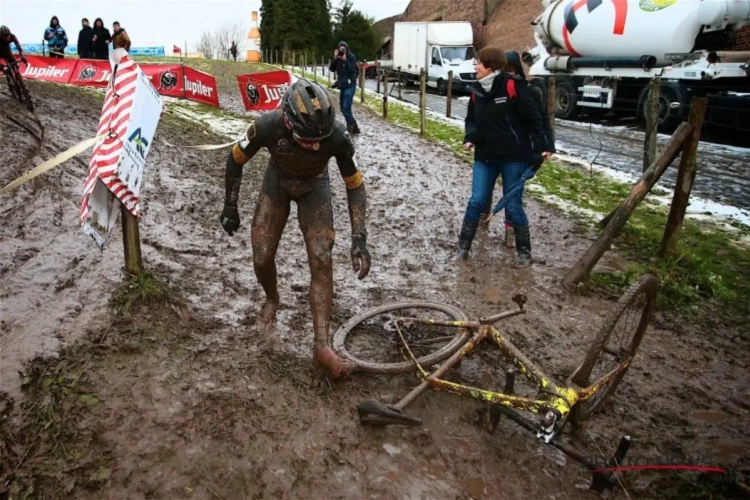
[[[601,464],[591,463],[580,453],[558,443],[555,438],[568,422],[571,422],[574,427],[579,427],[587,422],[612,396],[630,367],[646,332],[654,311],[657,288],[657,279],[650,274],[641,276],[638,281],[630,286],[605,318],[583,361],[566,380],[565,384],[558,384],[553,381],[494,326],[500,320],[526,313],[524,304],[527,299],[522,295],[513,297],[514,302],[518,304],[518,309],[501,312],[478,321],[468,321],[462,311],[447,304],[425,301],[386,304],[367,310],[343,324],[334,334],[333,347],[339,355],[354,363],[358,371],[377,374],[416,371],[422,380],[420,385],[396,404],[389,405],[375,400],[364,401],[357,408],[362,424],[371,426],[420,425],[421,421],[408,415],[405,410],[428,388],[445,390],[460,396],[486,401],[491,404],[491,432],[494,432],[497,428],[501,415],[506,415],[522,427],[535,433],[536,437],[542,439],[544,443],[555,446],[591,470],[594,474],[591,489],[601,491],[616,482],[612,473],[597,472],[598,469],[604,468]],[[395,313],[399,310],[408,309],[427,310],[432,315],[441,312],[448,315],[449,319],[435,320],[416,317],[415,315],[402,316]],[[621,321],[626,316],[629,317],[629,313],[633,311],[636,313],[634,327],[622,337],[614,334],[613,332]],[[389,315],[383,325],[387,331],[390,331],[391,342],[394,344],[398,342],[402,346],[401,356],[405,357],[406,361],[370,362],[354,356],[346,347],[349,337],[354,337],[350,335],[352,332],[368,330],[368,328],[372,330],[374,327],[368,326],[368,321],[384,313],[389,313]],[[379,332],[382,331],[383,325],[378,325]],[[425,339],[424,327],[447,327],[458,331],[437,339]],[[409,333],[410,329],[419,332],[422,338],[407,342],[405,333]],[[451,368],[474,351],[484,340],[494,342],[499,347],[503,357],[513,365],[506,372],[503,392],[470,387],[443,378]],[[619,347],[613,348],[610,345],[613,340],[620,341]],[[431,346],[435,342],[444,342],[444,345],[421,356],[415,355],[412,350],[415,344]],[[430,349],[433,348],[430,347]],[[592,382],[594,368],[599,362],[606,361],[607,355],[614,358],[614,365],[605,369],[603,375],[598,376]],[[430,373],[426,370],[426,367],[438,364],[440,366],[434,372]],[[538,388],[537,398],[530,399],[513,394],[517,371],[520,371]],[[542,415],[542,418],[535,424],[520,412]],[[623,460],[629,444],[630,438],[628,436],[623,437],[617,451],[610,459],[608,467]]]

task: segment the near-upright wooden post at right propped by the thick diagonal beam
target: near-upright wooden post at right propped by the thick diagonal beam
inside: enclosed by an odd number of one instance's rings
[[[669,218],[667,227],[664,230],[664,239],[661,242],[659,257],[666,256],[669,252],[674,251],[677,246],[682,223],[685,220],[685,211],[687,210],[690,192],[693,190],[695,182],[696,160],[698,157],[698,143],[701,140],[701,129],[703,128],[703,118],[706,115],[706,105],[708,99],[705,97],[695,97],[690,104],[690,118],[688,123],[693,125],[693,134],[685,141],[685,147],[682,149],[682,158],[680,159],[680,169],[677,172],[677,182],[674,187],[674,197],[672,206],[669,209]]]

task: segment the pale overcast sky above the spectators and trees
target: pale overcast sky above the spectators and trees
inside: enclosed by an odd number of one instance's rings
[[[333,6],[339,0],[332,0]],[[135,47],[172,45],[195,50],[195,44],[205,29],[225,21],[243,21],[250,28],[250,13],[260,10],[260,0],[0,0],[0,24],[10,27],[21,43],[41,43],[44,29],[52,16],[68,32],[70,44],[78,41],[81,19],[86,17],[93,25],[101,17],[111,30],[119,21]],[[409,0],[353,0],[354,8],[375,20],[406,9]]]

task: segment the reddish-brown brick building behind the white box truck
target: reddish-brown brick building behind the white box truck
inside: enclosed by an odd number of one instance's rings
[[[533,47],[530,23],[544,12],[541,0],[412,0],[401,16],[376,23],[381,33],[393,33],[396,21],[469,21],[474,28],[474,46],[496,45],[519,53]],[[384,35],[382,53],[391,54]],[[738,33],[734,50],[750,50],[750,27]]]

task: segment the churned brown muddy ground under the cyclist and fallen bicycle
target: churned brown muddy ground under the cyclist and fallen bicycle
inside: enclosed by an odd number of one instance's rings
[[[222,105],[239,112],[231,77],[221,85]],[[0,91],[0,132],[13,138],[0,141],[2,185],[95,132],[101,96],[30,87],[44,142],[35,152],[32,135],[6,120],[35,126]],[[454,263],[470,170],[438,146],[357,113],[373,267],[362,282],[351,271],[346,197],[332,165],[334,328],[394,300],[435,300],[476,316],[515,307],[511,296],[522,292],[529,313],[502,326],[564,379],[613,303],[559,285],[591,236],[528,200],[537,256],[530,270],[510,267],[513,253],[498,244],[496,223],[479,236],[468,263]],[[227,151],[163,141],[219,144],[226,137],[168,114],[162,119],[141,220],[144,261],[155,278],[130,287],[122,286],[119,234],[100,252],[78,230],[86,154],[0,197],[0,389],[7,393],[0,491],[11,488],[14,498],[32,487],[30,498],[60,498],[61,491],[67,498],[596,498],[585,491],[585,469],[514,424],[502,420],[489,436],[486,407],[474,401],[428,393],[410,410],[422,427],[360,427],[359,402],[395,401],[415,379],[334,381],[311,368],[309,271],[294,207],[277,256],[276,341],[253,328],[262,291],[249,222],[265,153],[245,169],[243,225],[230,238],[218,223]],[[659,313],[615,397],[565,439],[599,459],[629,434],[633,456],[700,455],[748,467],[747,352],[732,328]],[[44,358],[29,364],[37,356]],[[504,367],[488,348],[454,377],[500,389]],[[631,497],[656,498],[678,477],[625,479]]]

